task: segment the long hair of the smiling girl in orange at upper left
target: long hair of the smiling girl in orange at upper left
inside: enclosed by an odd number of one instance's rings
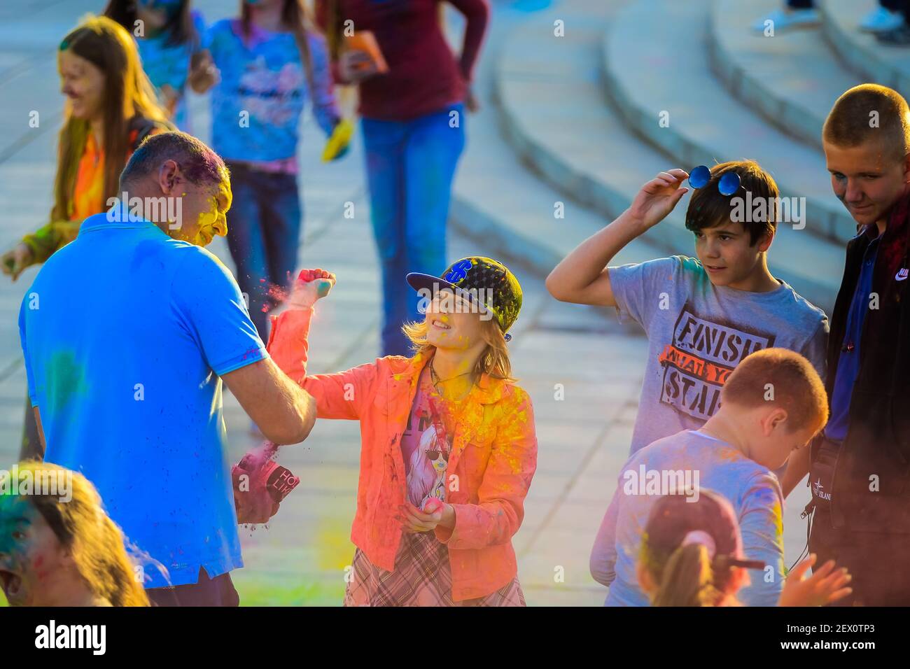
[[[104,199],[118,195],[120,171],[131,151],[130,121],[135,117],[167,124],[167,112],[158,104],[155,88],[139,60],[136,42],[122,25],[106,16],[89,16],[60,43],[59,51],[70,51],[100,69],[105,76],[104,92]],[[79,159],[86,149],[89,121],[74,118],[67,103],[57,149],[54,208],[51,220],[69,220],[73,210],[73,189]]]

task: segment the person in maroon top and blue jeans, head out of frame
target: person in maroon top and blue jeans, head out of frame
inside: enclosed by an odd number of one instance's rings
[[[409,355],[401,331],[420,320],[418,300],[401,282],[409,272],[447,266],[446,220],[452,179],[464,148],[464,111],[477,107],[471,72],[487,29],[487,0],[446,0],[467,19],[456,58],[440,25],[443,0],[317,0],[329,38],[332,74],[359,86],[373,233],[385,296],[381,355]],[[371,32],[388,71],[346,45]]]

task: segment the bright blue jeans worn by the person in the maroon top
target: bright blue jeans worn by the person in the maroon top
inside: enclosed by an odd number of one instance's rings
[[[450,112],[458,126],[450,127]],[[446,269],[446,220],[452,178],[464,148],[464,106],[410,121],[361,121],[370,215],[382,265],[382,355],[410,356],[401,326],[420,320],[408,272]]]

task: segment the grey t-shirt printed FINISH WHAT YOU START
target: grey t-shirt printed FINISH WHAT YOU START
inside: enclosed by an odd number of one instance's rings
[[[714,286],[702,263],[685,256],[609,271],[620,320],[640,323],[649,342],[632,453],[700,428],[717,411],[724,381],[756,350],[801,353],[824,380],[828,319],[784,281],[766,293]]]

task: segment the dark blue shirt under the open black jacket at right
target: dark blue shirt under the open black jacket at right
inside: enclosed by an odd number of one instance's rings
[[[861,234],[867,234],[863,229]],[[850,399],[853,387],[859,376],[859,344],[863,337],[865,315],[869,310],[869,299],[872,293],[872,278],[875,270],[875,258],[878,256],[878,242],[881,235],[869,242],[863,254],[863,266],[856,281],[850,311],[847,313],[847,325],[841,354],[837,358],[837,372],[834,377],[834,390],[831,392],[831,417],[824,427],[824,436],[830,440],[843,442],[850,427]]]

